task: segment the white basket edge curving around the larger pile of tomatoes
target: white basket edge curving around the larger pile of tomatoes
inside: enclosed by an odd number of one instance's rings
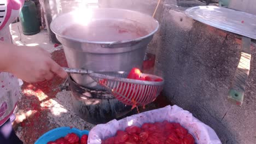
[[[106,124],[98,124],[91,129],[88,143],[100,144],[102,140],[114,136],[117,130],[125,130],[126,127],[131,125],[141,127],[143,123],[162,122],[165,120],[180,123],[193,135],[197,144],[222,143],[212,128],[193,117],[189,111],[185,111],[176,105],[139,113],[119,121],[114,119]]]

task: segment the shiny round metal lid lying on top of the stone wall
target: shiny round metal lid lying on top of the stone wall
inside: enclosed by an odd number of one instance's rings
[[[185,14],[207,25],[256,39],[255,15],[216,6],[191,7]]]

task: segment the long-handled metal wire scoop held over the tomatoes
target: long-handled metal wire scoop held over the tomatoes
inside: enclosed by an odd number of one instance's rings
[[[119,101],[126,105],[147,105],[154,101],[162,91],[164,79],[150,74],[141,74],[149,76],[153,80],[162,79],[162,81],[142,81],[126,79],[128,73],[118,72],[98,72],[91,70],[63,68],[71,74],[88,74],[98,84],[107,89]]]

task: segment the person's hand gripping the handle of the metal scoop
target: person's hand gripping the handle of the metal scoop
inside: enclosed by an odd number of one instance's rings
[[[11,49],[8,58],[10,62],[7,71],[14,74],[19,79],[26,82],[39,82],[50,80],[54,73],[62,77],[67,77],[65,70],[60,67],[53,59],[50,53],[33,46],[14,46]]]

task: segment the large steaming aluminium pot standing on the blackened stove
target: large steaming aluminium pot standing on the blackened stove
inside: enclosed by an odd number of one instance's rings
[[[63,44],[69,67],[130,71],[142,67],[147,45],[159,23],[137,11],[104,8],[62,14],[50,27]],[[88,75],[71,76],[79,85],[103,89]]]

